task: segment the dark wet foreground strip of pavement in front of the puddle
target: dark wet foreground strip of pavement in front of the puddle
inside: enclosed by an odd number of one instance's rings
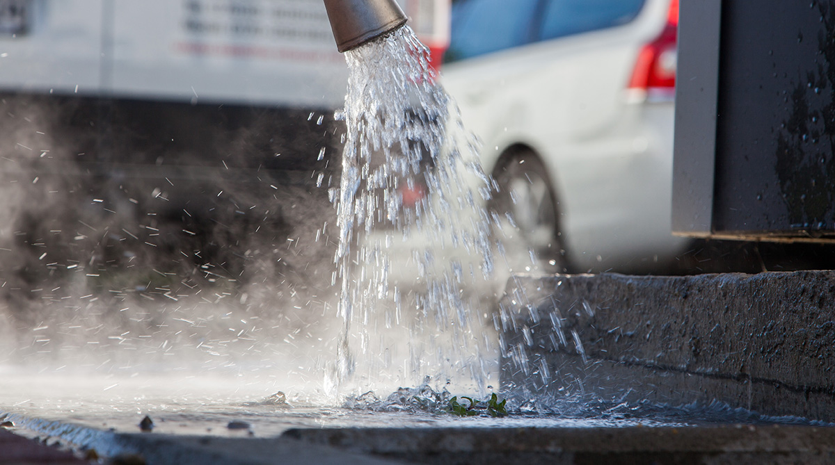
[[[381,423],[408,413],[377,415]],[[460,421],[459,421],[460,420]],[[713,426],[554,427],[457,419],[453,426],[417,422],[404,428],[345,425],[293,428],[277,437],[237,438],[171,433],[118,433],[67,423],[23,421],[73,443],[79,454],[111,463],[832,463],[835,428],[728,424]],[[327,423],[325,419],[323,423]],[[359,424],[359,423],[357,423]],[[467,425],[468,428],[462,428]],[[503,426],[498,426],[503,425]],[[583,425],[583,426],[577,426]]]

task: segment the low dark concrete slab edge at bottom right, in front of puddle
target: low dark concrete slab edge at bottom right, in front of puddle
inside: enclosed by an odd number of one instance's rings
[[[300,429],[285,436],[444,465],[835,461],[835,429],[792,426]]]

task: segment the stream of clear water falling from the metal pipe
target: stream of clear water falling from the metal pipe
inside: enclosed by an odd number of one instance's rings
[[[483,390],[494,344],[479,300],[493,253],[493,188],[478,143],[411,28],[347,52],[347,124],[334,282],[344,322],[331,389],[463,377]],[[491,362],[493,360],[493,362]],[[465,381],[466,383],[467,381]]]

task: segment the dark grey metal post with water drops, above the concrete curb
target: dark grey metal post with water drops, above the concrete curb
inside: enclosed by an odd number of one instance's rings
[[[675,233],[835,243],[835,0],[681,0]]]

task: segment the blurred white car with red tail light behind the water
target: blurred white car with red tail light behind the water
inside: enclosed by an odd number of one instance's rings
[[[457,0],[441,82],[548,271],[662,269],[678,0]],[[519,271],[519,270],[516,270]]]

